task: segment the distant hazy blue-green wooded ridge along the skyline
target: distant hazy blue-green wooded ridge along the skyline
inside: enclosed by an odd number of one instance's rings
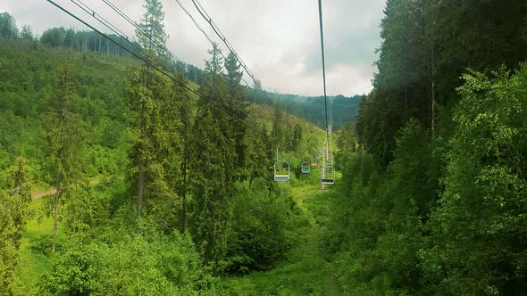
[[[131,57],[132,53],[139,53],[141,48],[138,40],[128,40],[114,34],[107,37],[117,42],[115,44],[108,38],[101,36],[94,31],[82,31],[75,29],[64,29],[63,27],[46,29],[40,37],[36,36],[29,26],[22,26],[19,30],[16,21],[11,15],[4,12],[0,14],[0,37],[7,39],[20,39],[25,41],[38,42],[49,47],[60,47],[71,50],[105,53],[117,57]],[[130,42],[132,43],[130,45]],[[124,49],[124,48],[126,49]],[[173,61],[160,48],[163,56],[163,68],[171,71],[184,71],[185,78],[196,82],[198,85],[204,83],[204,72],[192,64],[183,67],[179,62]],[[299,95],[264,95],[258,87],[243,86],[248,102],[259,103],[274,107],[268,99],[271,98],[277,106],[288,113],[297,117],[314,122],[318,127],[325,128],[325,117],[321,112],[323,109],[323,97],[305,97]],[[336,129],[342,127],[347,122],[355,121],[358,112],[360,96],[346,97],[344,95],[328,97],[330,108],[330,121]]]

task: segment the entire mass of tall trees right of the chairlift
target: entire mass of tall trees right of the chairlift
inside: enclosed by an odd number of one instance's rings
[[[374,89],[338,141],[348,156],[325,247],[345,292],[522,294],[527,5],[389,0],[384,12]]]

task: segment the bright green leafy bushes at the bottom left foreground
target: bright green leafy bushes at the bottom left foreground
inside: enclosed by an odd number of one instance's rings
[[[194,294],[213,284],[188,236],[147,228],[105,236],[111,241],[71,244],[58,253],[42,278],[43,294]]]

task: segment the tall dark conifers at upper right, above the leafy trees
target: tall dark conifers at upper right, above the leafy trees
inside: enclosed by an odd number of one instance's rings
[[[526,10],[514,0],[387,1],[375,88],[357,119],[359,141],[387,166],[397,131],[411,118],[431,136],[451,136],[464,70],[513,69],[523,62],[527,40],[519,28]]]

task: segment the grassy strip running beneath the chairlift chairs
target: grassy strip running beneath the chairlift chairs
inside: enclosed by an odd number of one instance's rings
[[[317,174],[316,170],[312,172]],[[311,182],[310,182],[311,183]],[[313,184],[313,183],[311,183]],[[334,266],[323,259],[322,231],[330,215],[332,188],[299,184],[291,189],[300,213],[289,219],[293,247],[272,270],[224,278],[230,295],[340,295]]]

